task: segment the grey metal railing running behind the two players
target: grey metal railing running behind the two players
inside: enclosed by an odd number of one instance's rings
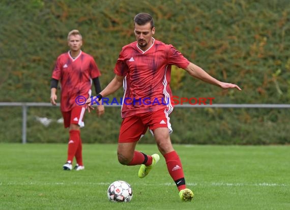
[[[59,107],[60,103],[56,103],[56,107]],[[121,107],[119,104],[106,105],[105,107]],[[53,107],[51,103],[45,102],[0,102],[0,107],[22,107],[22,143],[26,143],[26,126],[27,126],[27,107]],[[271,109],[289,109],[290,104],[266,104],[266,103],[219,103],[212,105],[191,105],[178,104],[175,108],[271,108]]]

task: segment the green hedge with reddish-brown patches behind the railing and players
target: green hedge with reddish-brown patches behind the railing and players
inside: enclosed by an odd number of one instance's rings
[[[171,43],[218,80],[243,91],[222,90],[173,71],[180,97],[214,97],[214,103],[289,103],[290,2],[265,1],[16,1],[0,2],[0,101],[49,102],[54,62],[68,50],[67,33],[78,29],[105,87],[123,45],[135,41],[133,17],[148,12],[155,38]],[[122,89],[111,97],[123,95]],[[37,117],[47,117],[44,126]],[[28,142],[67,142],[59,108],[28,109]],[[171,115],[173,143],[288,144],[287,109],[179,109]],[[21,108],[0,107],[0,142],[21,142]],[[85,143],[115,143],[120,108],[97,118],[86,114]],[[153,143],[150,134],[143,143]]]

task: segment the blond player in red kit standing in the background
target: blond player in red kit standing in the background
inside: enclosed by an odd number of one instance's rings
[[[83,170],[82,144],[80,127],[84,126],[83,116],[84,102],[91,96],[92,82],[96,93],[101,92],[99,76],[101,75],[92,56],[81,51],[82,36],[78,30],[72,30],[68,34],[68,46],[70,50],[60,55],[52,72],[50,101],[56,104],[57,84],[61,83],[61,112],[64,118],[64,126],[69,127],[68,157],[63,166],[64,170],[72,170],[75,157],[77,171]],[[97,107],[97,114],[104,113],[104,106]]]

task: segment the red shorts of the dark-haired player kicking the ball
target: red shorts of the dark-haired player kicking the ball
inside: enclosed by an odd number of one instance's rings
[[[171,133],[172,129],[169,119],[168,113],[164,109],[126,117],[121,124],[119,142],[130,143],[138,141],[146,134],[148,127],[152,134],[158,127],[167,127],[169,133]]]

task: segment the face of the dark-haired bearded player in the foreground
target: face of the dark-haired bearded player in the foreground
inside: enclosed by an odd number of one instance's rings
[[[152,36],[155,33],[155,28],[151,29],[150,22],[144,25],[135,23],[134,32],[138,46],[144,51],[147,50],[153,43]]]

